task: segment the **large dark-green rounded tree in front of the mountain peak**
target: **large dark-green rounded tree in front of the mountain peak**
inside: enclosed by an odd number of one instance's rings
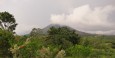
[[[65,49],[70,45],[78,44],[80,37],[75,33],[75,30],[68,27],[51,27],[48,31],[48,39],[46,41]]]

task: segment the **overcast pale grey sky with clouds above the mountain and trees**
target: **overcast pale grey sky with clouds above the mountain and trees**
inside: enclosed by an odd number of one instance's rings
[[[115,0],[0,0],[4,11],[14,15],[19,35],[49,24],[115,35]]]

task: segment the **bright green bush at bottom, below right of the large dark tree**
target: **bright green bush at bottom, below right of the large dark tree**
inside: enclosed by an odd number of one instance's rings
[[[92,52],[91,47],[85,47],[82,45],[75,45],[73,47],[70,47],[67,49],[67,55],[75,58],[86,58],[88,57]]]

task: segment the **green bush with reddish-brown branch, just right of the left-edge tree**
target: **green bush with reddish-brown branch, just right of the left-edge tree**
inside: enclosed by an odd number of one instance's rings
[[[35,58],[37,56],[36,51],[40,47],[38,41],[33,38],[27,38],[26,40],[24,39],[24,41],[20,39],[19,41],[21,43],[17,42],[17,44],[14,44],[14,46],[10,48],[14,58]]]

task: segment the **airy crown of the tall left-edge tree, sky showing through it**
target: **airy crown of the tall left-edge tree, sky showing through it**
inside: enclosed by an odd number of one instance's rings
[[[0,28],[2,30],[12,31],[15,30],[17,23],[12,14],[8,12],[0,12]]]

